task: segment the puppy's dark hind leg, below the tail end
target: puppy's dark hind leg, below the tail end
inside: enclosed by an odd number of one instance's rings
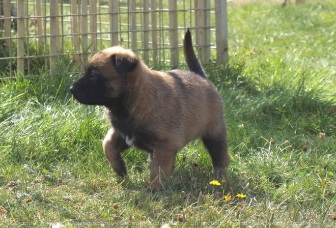
[[[219,133],[203,136],[202,140],[211,156],[214,172],[223,174],[230,163],[225,127]]]

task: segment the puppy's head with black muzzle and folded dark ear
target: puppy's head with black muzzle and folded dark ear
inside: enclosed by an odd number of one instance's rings
[[[138,64],[138,56],[122,47],[110,47],[96,53],[85,73],[70,87],[74,98],[82,104],[105,105],[120,97],[130,73]]]

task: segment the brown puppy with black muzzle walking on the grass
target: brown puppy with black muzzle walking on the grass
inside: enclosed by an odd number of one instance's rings
[[[131,50],[110,47],[96,53],[70,91],[80,103],[104,105],[111,129],[103,140],[106,158],[126,175],[121,153],[130,146],[150,153],[151,187],[170,177],[175,156],[201,137],[215,172],[223,172],[230,157],[222,100],[197,60],[189,30],[184,54],[190,71],[158,72]]]

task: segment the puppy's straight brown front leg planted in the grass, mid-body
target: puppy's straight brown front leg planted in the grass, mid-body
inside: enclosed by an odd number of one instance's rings
[[[163,186],[162,181],[171,176],[176,153],[175,151],[154,150],[150,167],[151,188],[153,191],[161,188]]]

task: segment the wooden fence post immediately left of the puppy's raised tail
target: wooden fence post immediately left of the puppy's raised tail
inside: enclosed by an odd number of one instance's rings
[[[179,49],[178,49],[178,30],[177,30],[177,2],[169,0],[169,29],[171,43],[171,67],[176,68],[179,64]]]

